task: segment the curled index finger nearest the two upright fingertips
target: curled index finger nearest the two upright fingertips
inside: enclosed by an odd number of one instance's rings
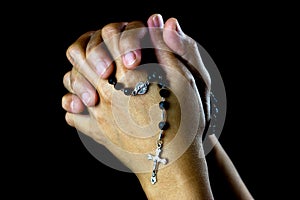
[[[141,41],[147,33],[145,25],[133,21],[126,25],[120,38],[120,52],[126,68],[135,69],[141,62]]]

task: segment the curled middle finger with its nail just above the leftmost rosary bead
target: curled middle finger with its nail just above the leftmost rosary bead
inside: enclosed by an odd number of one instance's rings
[[[113,72],[112,58],[102,40],[101,29],[90,37],[86,48],[86,58],[99,77],[106,79]]]

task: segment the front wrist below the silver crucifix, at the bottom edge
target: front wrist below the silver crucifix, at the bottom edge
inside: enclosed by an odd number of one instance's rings
[[[151,172],[136,173],[136,176],[149,200],[213,199],[205,156],[199,144],[192,144],[179,159],[160,169],[157,183],[151,183]]]

